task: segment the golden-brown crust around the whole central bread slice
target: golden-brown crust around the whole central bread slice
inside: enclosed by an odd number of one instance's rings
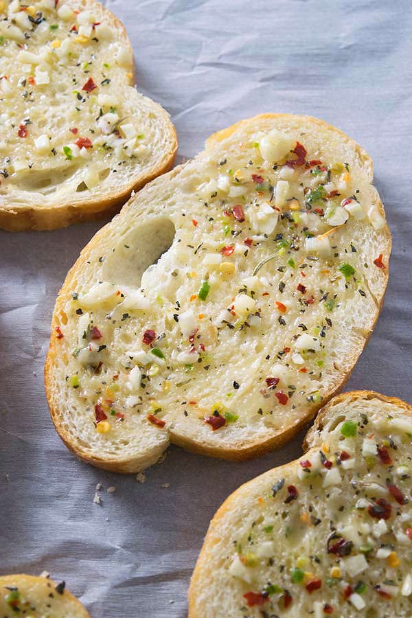
[[[310,116],[297,117],[295,115],[290,115],[290,114],[258,115],[252,119],[245,119],[236,124],[233,124],[227,129],[218,131],[218,133],[214,133],[213,135],[211,135],[211,137],[209,137],[209,139],[207,139],[206,148],[207,148],[207,145],[211,144],[213,141],[222,141],[223,139],[226,139],[235,130],[240,128],[243,124],[249,124],[251,122],[258,123],[260,119],[264,119],[264,118],[273,118],[273,119],[284,118],[284,119],[295,119],[295,120],[299,118],[299,122],[310,121],[311,123],[313,122],[314,124],[322,126],[323,128],[327,128],[328,130],[336,131],[337,133],[339,133],[339,135],[342,135],[343,137],[345,137],[345,140],[349,140],[352,144],[355,145],[356,152],[358,152],[358,155],[367,164],[367,166],[369,167],[370,173],[372,173],[371,172],[372,170],[371,159],[361,146],[358,146],[358,144],[356,144],[356,142],[353,139],[351,139],[350,137],[347,137],[347,135],[345,135],[345,133],[342,133],[339,129],[334,128],[330,124],[323,122],[320,119],[313,118]],[[157,181],[155,182],[167,181],[168,178],[178,173],[180,169],[181,169],[180,167],[175,168],[175,170],[173,170],[173,172],[170,172],[168,176],[165,176],[164,179],[157,179]],[[382,202],[380,201],[380,198],[376,201],[376,206],[378,207],[380,214],[384,216],[385,211],[383,209],[383,205],[382,205]],[[130,205],[125,205],[124,208],[128,208],[128,207],[130,207]],[[374,321],[369,326],[367,332],[363,334],[363,341],[358,345],[358,347],[356,347],[352,351],[352,355],[347,359],[347,364],[350,365],[349,371],[347,371],[346,373],[342,373],[340,376],[340,379],[336,380],[334,382],[334,385],[332,385],[332,387],[330,388],[330,390],[323,394],[322,402],[317,404],[317,406],[312,407],[312,409],[308,411],[306,415],[301,417],[298,422],[288,427],[286,431],[279,431],[278,433],[276,433],[275,435],[271,435],[271,437],[267,439],[251,439],[249,442],[247,442],[246,444],[242,444],[242,445],[233,444],[229,446],[214,447],[214,446],[203,444],[201,440],[199,439],[196,441],[196,439],[188,439],[187,437],[177,435],[174,432],[173,428],[170,428],[169,433],[168,433],[170,443],[176,444],[177,446],[181,446],[185,448],[186,450],[190,450],[193,453],[197,453],[199,455],[207,455],[209,457],[217,457],[218,459],[226,459],[229,461],[245,461],[247,459],[251,459],[259,455],[264,455],[265,453],[268,453],[269,451],[275,448],[280,448],[281,446],[286,444],[286,442],[290,441],[290,439],[293,439],[293,437],[295,437],[295,435],[297,435],[299,431],[301,431],[305,426],[308,426],[308,424],[313,420],[315,415],[317,415],[317,412],[319,411],[319,409],[321,407],[324,407],[325,404],[334,395],[336,395],[336,393],[339,393],[339,391],[341,391],[341,389],[343,389],[343,387],[345,386],[347,380],[349,380],[350,374],[352,373],[352,370],[354,369],[354,366],[356,365],[356,361],[358,361],[359,356],[363,352],[363,349],[367,341],[369,340],[371,333],[374,330],[374,326],[376,325],[376,321],[378,320],[380,311],[382,310],[383,301],[385,298],[385,292],[387,288],[387,282],[389,279],[389,255],[391,253],[391,233],[386,223],[385,223],[384,231],[385,231],[386,243],[385,243],[385,247],[382,247],[382,259],[384,260],[385,264],[388,264],[388,266],[387,268],[385,268],[385,272],[382,273],[382,275],[385,276],[384,293],[382,294],[382,298],[380,299],[380,302],[376,308],[376,314],[374,316]],[[80,446],[79,444],[73,443],[73,440],[71,439],[71,437],[65,430],[65,426],[62,422],[62,414],[60,413],[60,410],[54,405],[53,398],[52,398],[52,367],[54,365],[55,358],[57,356],[56,337],[53,336],[54,327],[57,325],[56,314],[58,313],[59,310],[63,308],[65,301],[68,298],[70,290],[73,289],[73,284],[74,282],[76,282],[76,271],[78,271],[80,266],[82,266],[84,262],[87,261],[93,248],[98,246],[101,235],[104,235],[104,230],[99,231],[96,234],[96,236],[91,240],[91,242],[89,242],[87,247],[85,247],[85,249],[82,251],[82,253],[80,254],[80,257],[78,258],[78,261],[76,262],[76,264],[74,264],[73,268],[71,268],[71,271],[69,271],[69,274],[67,275],[67,279],[65,280],[65,283],[63,284],[60,290],[60,293],[58,295],[58,299],[56,301],[56,307],[54,309],[54,317],[52,321],[52,337],[50,339],[49,353],[47,354],[47,359],[45,363],[45,390],[46,390],[47,400],[49,402],[50,413],[52,416],[52,420],[54,422],[54,426],[56,427],[56,431],[60,435],[62,441],[65,442],[69,450],[75,453],[80,459],[82,459],[82,461],[85,461],[86,463],[91,464],[93,466],[98,466],[99,468],[103,468],[104,470],[110,470],[111,472],[133,474],[135,472],[139,472],[139,470],[142,469],[141,468],[142,463],[146,464],[146,466],[149,466],[155,463],[155,461],[153,461],[153,458],[150,457],[150,463],[148,463],[149,458],[147,459],[145,458],[143,460],[141,458],[136,458],[136,459],[126,458],[126,459],[108,460],[108,459],[101,459],[99,457],[95,457],[94,455],[91,456],[89,453],[87,453],[87,450],[82,448],[82,446]],[[104,236],[102,236],[102,238],[104,238]],[[137,464],[139,464],[140,467]]]

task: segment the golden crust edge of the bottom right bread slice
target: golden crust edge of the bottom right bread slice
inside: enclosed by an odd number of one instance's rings
[[[385,395],[381,395],[380,393],[376,393],[375,391],[348,391],[347,393],[341,393],[340,395],[332,398],[332,400],[330,400],[328,404],[326,404],[317,415],[313,426],[309,429],[308,433],[304,438],[304,442],[302,444],[303,454],[306,453],[309,448],[312,448],[309,446],[309,442],[316,444],[317,441],[314,439],[314,436],[316,432],[322,428],[323,420],[328,414],[330,414],[330,411],[336,404],[341,404],[342,402],[349,403],[360,399],[378,399],[382,402],[394,404],[397,407],[401,408],[407,416],[412,417],[412,406],[397,397],[386,397]],[[301,459],[301,457],[299,457],[298,459]],[[288,464],[284,464],[283,466],[275,468],[279,472],[279,477],[282,477],[284,475],[282,473],[282,470],[288,470],[288,468],[295,464],[296,461],[297,460],[290,461]],[[196,588],[198,586],[199,580],[201,579],[201,575],[204,574],[205,571],[207,571],[207,565],[211,564],[211,561],[209,560],[209,547],[214,542],[215,527],[218,527],[220,520],[225,518],[227,513],[231,511],[232,505],[238,500],[239,494],[247,494],[249,491],[249,487],[255,485],[255,483],[259,482],[260,480],[265,479],[268,475],[272,474],[272,472],[273,469],[268,470],[263,474],[259,474],[258,477],[251,479],[251,481],[247,481],[247,483],[243,483],[242,485],[240,485],[240,487],[232,494],[230,494],[230,496],[222,503],[222,505],[216,511],[214,517],[211,519],[209,528],[207,529],[207,533],[203,541],[201,553],[199,554],[198,560],[196,562],[196,567],[194,568],[194,572],[190,581],[190,588],[187,593],[187,598],[189,602],[188,618],[205,618],[205,615],[198,613],[196,609]]]

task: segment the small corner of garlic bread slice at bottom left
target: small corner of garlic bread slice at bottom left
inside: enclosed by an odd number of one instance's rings
[[[80,601],[48,577],[3,575],[0,577],[1,618],[90,618]]]

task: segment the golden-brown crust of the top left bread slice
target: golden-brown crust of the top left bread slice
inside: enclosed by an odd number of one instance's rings
[[[133,58],[133,76],[130,79],[130,86],[136,84],[136,65],[133,55],[133,47],[128,38],[126,27],[106,6],[101,5],[97,0],[89,0],[89,4],[98,4],[106,14],[108,20],[115,30],[120,30],[123,40],[126,43],[130,56]],[[159,106],[160,107],[160,106]],[[23,205],[21,207],[5,206],[1,204],[0,198],[0,228],[6,231],[27,231],[27,230],[52,230],[68,227],[73,223],[95,221],[104,217],[111,218],[115,215],[122,205],[130,198],[133,191],[139,191],[146,183],[161,176],[172,169],[176,159],[178,141],[176,129],[174,128],[168,113],[161,108],[166,126],[172,135],[172,144],[163,160],[159,164],[148,170],[145,174],[136,176],[122,190],[113,191],[98,199],[76,201],[74,204],[60,203],[48,207],[36,205]]]

